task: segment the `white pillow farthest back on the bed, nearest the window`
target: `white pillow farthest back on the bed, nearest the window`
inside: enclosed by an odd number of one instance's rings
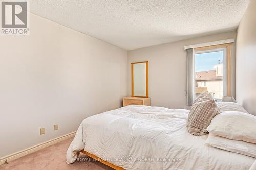
[[[238,111],[238,112],[244,112],[248,113],[243,106],[241,106],[238,103],[234,102],[216,102],[217,105],[220,107],[220,112],[225,112],[225,111]]]

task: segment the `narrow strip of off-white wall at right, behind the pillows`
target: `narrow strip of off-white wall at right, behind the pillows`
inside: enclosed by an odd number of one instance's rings
[[[256,115],[256,0],[251,0],[237,31],[237,102]]]

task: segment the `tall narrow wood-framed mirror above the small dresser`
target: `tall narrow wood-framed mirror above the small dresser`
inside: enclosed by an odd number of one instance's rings
[[[132,97],[148,98],[148,61],[132,64]]]

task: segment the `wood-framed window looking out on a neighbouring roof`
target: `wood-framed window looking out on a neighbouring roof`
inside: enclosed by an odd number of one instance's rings
[[[195,49],[193,99],[208,91],[216,101],[230,95],[229,44]]]

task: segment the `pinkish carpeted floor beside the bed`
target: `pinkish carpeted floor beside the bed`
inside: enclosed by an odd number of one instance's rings
[[[32,154],[10,161],[9,164],[0,165],[0,169],[12,169],[12,170],[37,170],[37,169],[112,169],[100,162],[94,161],[92,158],[87,157],[84,154],[80,154],[79,157],[86,158],[82,162],[75,162],[73,164],[66,164],[66,151],[73,138],[56,143],[45,149],[39,150]]]

